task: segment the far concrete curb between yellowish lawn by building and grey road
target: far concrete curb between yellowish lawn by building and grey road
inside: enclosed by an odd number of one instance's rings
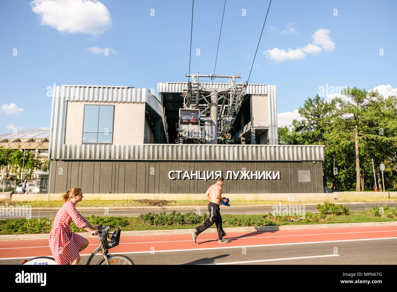
[[[360,205],[360,204],[385,204],[385,203],[395,203],[397,204],[397,201],[388,201],[388,202],[345,202],[345,203],[335,203],[335,205]],[[15,205],[16,204],[10,204],[10,205]],[[267,204],[267,205],[231,205],[230,207],[225,207],[223,206],[222,208],[249,208],[249,207],[273,207],[278,204]],[[283,206],[289,206],[289,205],[304,205],[304,206],[316,206],[317,203],[291,203]],[[126,206],[126,207],[77,207],[78,210],[97,210],[97,209],[104,209],[108,208],[109,210],[118,210],[118,209],[192,209],[192,208],[206,208],[208,207],[207,205],[202,205],[202,206],[136,206],[136,207],[131,207],[131,206]],[[60,207],[32,207],[32,211],[58,211]]]

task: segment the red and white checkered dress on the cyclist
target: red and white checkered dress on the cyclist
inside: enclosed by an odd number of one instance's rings
[[[58,265],[66,265],[78,257],[81,246],[87,240],[70,230],[72,220],[78,228],[83,228],[88,224],[87,219],[80,215],[75,205],[67,201],[56,214],[48,238],[52,255]]]

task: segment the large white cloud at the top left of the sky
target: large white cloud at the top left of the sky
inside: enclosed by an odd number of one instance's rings
[[[60,32],[101,35],[112,27],[110,12],[96,0],[33,0],[33,12],[42,25]]]

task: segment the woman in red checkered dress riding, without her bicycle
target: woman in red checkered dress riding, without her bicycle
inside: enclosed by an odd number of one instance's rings
[[[84,228],[90,233],[98,235],[98,224],[92,226],[76,209],[76,203],[83,199],[81,188],[72,188],[63,195],[64,205],[58,211],[54,221],[48,242],[54,259],[58,265],[78,265],[80,261],[79,252],[88,246],[88,240],[70,230],[70,223],[76,224],[77,228]]]

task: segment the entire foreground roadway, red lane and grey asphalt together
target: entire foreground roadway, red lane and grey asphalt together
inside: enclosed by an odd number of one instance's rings
[[[125,236],[110,253],[127,255],[136,265],[394,265],[397,260],[396,226],[228,233],[227,244],[219,244],[216,233],[206,232],[197,244],[191,234]],[[80,264],[98,246],[95,237],[89,243]],[[19,265],[38,255],[51,255],[48,240],[0,242],[0,265]],[[91,263],[101,258],[96,255]]]

